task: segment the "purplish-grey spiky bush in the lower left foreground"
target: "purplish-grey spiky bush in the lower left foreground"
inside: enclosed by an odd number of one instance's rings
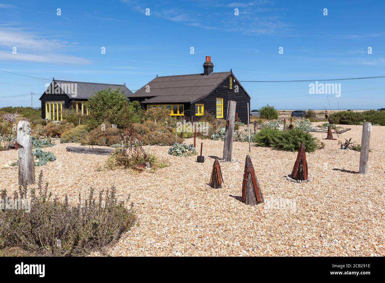
[[[21,199],[30,204],[30,211],[0,211],[0,249],[18,247],[37,255],[81,256],[100,250],[117,241],[128,231],[136,218],[126,203],[118,203],[114,186],[99,191],[95,199],[90,189],[87,199],[79,194],[77,205],[52,197],[48,183],[43,185],[40,172],[37,188],[19,186],[13,198],[1,191],[1,198]]]

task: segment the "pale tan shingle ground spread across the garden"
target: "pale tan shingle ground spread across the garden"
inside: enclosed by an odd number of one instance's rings
[[[114,256],[385,256],[385,127],[372,127],[365,175],[357,174],[360,152],[339,149],[344,138],[361,143],[362,126],[349,127],[333,135],[336,141],[323,140],[324,149],[306,154],[310,183],[286,180],[296,152],[253,145],[248,152],[248,143],[234,142],[239,162],[221,163],[223,187],[211,189],[213,157],[223,152],[223,142],[211,140],[202,140],[204,163],[196,156],[169,156],[168,146],[145,146],[172,165],[141,174],[97,172],[106,156],[69,153],[66,146],[79,144],[57,144],[44,149],[57,160],[37,167],[36,174],[43,169],[54,194],[75,201],[89,186],[115,184],[119,199],[131,194],[138,223],[109,248]],[[240,201],[246,154],[265,198],[257,206]],[[16,151],[0,152],[0,164],[16,158]],[[0,169],[0,186],[17,189],[17,167]]]

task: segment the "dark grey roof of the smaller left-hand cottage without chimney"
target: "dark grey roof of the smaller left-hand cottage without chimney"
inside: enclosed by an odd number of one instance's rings
[[[69,80],[55,80],[55,84],[71,84],[75,83],[77,85],[77,96],[75,99],[89,99],[91,95],[94,94],[95,91],[99,91],[102,89],[116,90],[120,87],[120,91],[124,91],[124,94],[129,97],[132,95],[132,91],[129,90],[124,84],[100,84],[96,82],[74,82]],[[63,93],[65,91],[63,90]],[[68,94],[67,94],[68,95]],[[70,98],[74,98],[71,95],[68,95]],[[41,97],[40,97],[41,99]]]

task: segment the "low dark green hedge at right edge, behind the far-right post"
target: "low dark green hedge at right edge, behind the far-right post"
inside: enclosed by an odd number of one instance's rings
[[[361,125],[362,122],[370,122],[385,126],[385,111],[369,110],[364,112],[340,111],[331,114],[328,118],[331,124]]]

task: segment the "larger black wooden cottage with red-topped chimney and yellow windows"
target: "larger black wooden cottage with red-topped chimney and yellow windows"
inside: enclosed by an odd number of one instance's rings
[[[138,100],[144,109],[166,107],[173,116],[190,119],[202,117],[208,111],[217,118],[226,118],[229,100],[234,100],[236,112],[247,123],[247,103],[250,96],[233,72],[213,72],[211,57],[206,56],[203,74],[156,77],[141,87],[129,99]]]

